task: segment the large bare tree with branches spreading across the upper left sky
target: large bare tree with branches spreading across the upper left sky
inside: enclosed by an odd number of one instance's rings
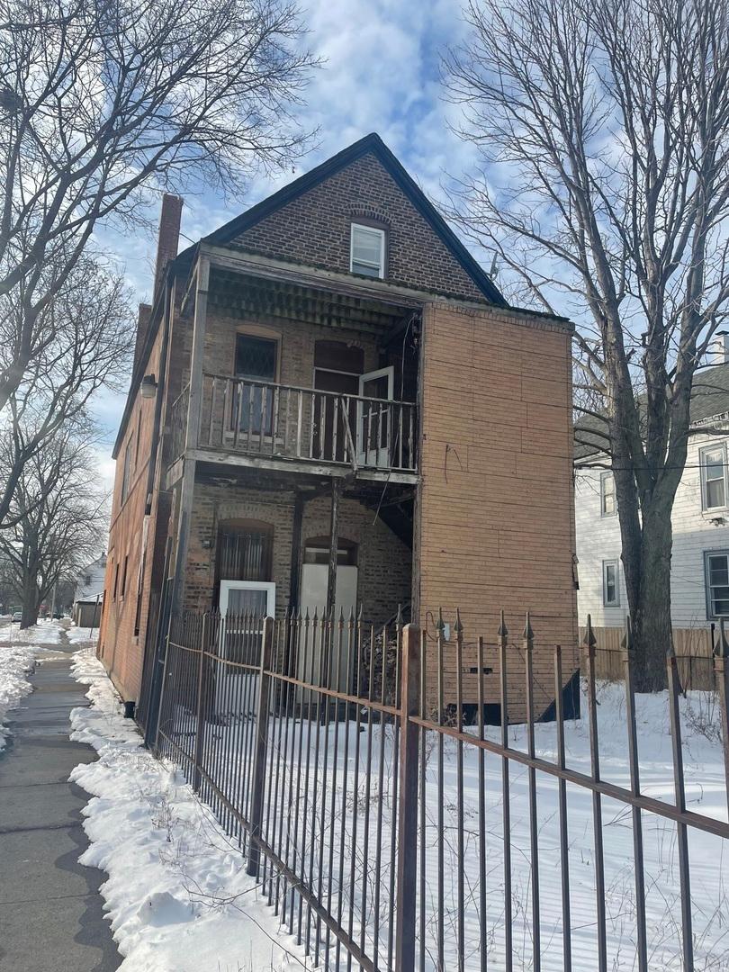
[[[0,0],[0,295],[22,306],[0,409],[55,340],[44,311],[100,222],[301,153],[301,35],[285,0]]]

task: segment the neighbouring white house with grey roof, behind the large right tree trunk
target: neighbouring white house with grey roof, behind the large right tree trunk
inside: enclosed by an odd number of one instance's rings
[[[691,401],[694,430],[672,517],[671,613],[675,631],[708,633],[729,618],[729,364],[699,372]],[[702,429],[706,432],[702,433]],[[576,434],[574,504],[579,624],[617,628],[628,611],[620,562],[614,482],[599,441]],[[590,447],[589,442],[595,443]],[[586,444],[587,443],[587,444]],[[686,636],[689,637],[689,636]]]

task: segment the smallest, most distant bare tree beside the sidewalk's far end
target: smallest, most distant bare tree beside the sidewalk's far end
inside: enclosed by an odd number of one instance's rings
[[[12,503],[15,526],[0,533],[25,628],[55,584],[75,579],[101,547],[108,508],[94,483],[91,440],[57,434],[25,464]]]

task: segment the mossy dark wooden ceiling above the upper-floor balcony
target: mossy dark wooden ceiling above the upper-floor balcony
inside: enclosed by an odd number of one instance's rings
[[[386,335],[415,307],[212,267],[208,303],[240,317],[282,317]]]

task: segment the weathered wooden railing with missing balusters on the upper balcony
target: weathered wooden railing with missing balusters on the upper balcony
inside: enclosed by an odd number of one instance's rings
[[[187,406],[184,395],[173,405],[173,428],[175,407],[183,401]],[[354,469],[414,471],[415,421],[415,404],[410,401],[205,374],[198,444],[203,449]]]

